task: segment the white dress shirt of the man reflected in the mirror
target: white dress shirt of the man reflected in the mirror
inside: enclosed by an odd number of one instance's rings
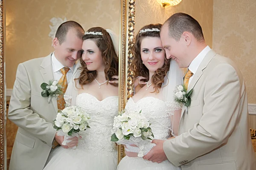
[[[64,68],[65,66],[61,64],[61,62],[56,59],[54,53],[52,53],[52,71],[53,71],[53,77],[54,80],[59,80],[62,77],[61,68]],[[70,79],[73,75],[73,71],[75,68],[75,65],[73,67],[69,67],[70,70],[67,72],[67,83],[70,82]]]

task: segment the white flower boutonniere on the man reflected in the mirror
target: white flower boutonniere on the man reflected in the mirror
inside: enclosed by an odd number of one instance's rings
[[[49,84],[43,82],[41,88],[43,89],[41,95],[48,97],[48,103],[51,101],[52,97],[57,99],[60,94],[63,94],[62,86],[58,84],[58,80],[50,80]]]

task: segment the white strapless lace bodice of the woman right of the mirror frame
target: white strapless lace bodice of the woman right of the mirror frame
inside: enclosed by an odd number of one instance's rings
[[[140,99],[137,103],[131,98],[128,100],[125,109],[127,111],[136,111],[139,112],[142,110],[142,114],[151,123],[152,133],[154,134],[154,139],[166,140],[170,137],[171,134],[171,113],[168,113],[166,109],[166,102],[157,99],[155,97],[145,97]],[[147,144],[144,148],[144,155],[154,147],[155,144]],[[137,147],[127,146],[126,149],[129,152],[138,152]]]

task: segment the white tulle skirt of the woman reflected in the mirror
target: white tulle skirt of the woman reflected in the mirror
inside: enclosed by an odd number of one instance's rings
[[[116,153],[92,153],[58,147],[53,150],[44,170],[116,170]]]

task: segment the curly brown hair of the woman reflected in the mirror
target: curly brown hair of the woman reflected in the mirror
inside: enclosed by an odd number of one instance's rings
[[[101,27],[93,27],[88,29],[87,32],[102,32],[103,35],[85,34],[83,36],[84,40],[93,40],[99,47],[102,53],[103,63],[105,65],[105,77],[108,81],[114,80],[113,76],[118,76],[118,56],[116,54],[113,42],[111,40],[110,34]],[[97,77],[97,71],[89,71],[85,62],[80,59],[81,74],[77,80],[79,80],[80,85],[86,85],[92,82]],[[118,84],[110,83],[113,86],[118,86]]]

